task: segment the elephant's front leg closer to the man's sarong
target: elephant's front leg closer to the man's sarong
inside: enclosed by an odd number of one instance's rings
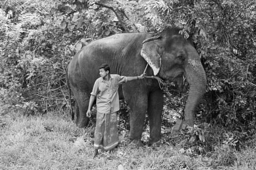
[[[141,135],[143,131],[143,125],[145,121],[145,115],[147,110],[147,95],[136,94],[132,97],[130,104],[130,141],[137,147],[144,146],[141,143]]]

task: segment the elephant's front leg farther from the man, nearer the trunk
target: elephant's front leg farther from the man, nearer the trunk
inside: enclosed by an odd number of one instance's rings
[[[149,94],[149,105],[147,114],[149,115],[150,141],[152,146],[159,146],[161,140],[161,116],[164,105],[163,91],[157,89]]]

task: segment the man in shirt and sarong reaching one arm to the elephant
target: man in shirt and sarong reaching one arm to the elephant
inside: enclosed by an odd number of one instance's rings
[[[97,115],[94,135],[94,153],[93,158],[102,150],[112,150],[118,144],[119,135],[117,128],[117,111],[119,111],[118,87],[122,83],[131,80],[143,79],[144,74],[140,76],[120,76],[110,74],[110,67],[107,64],[100,66],[100,78],[95,81],[89,101],[87,117],[91,117],[91,109],[95,97],[97,97]]]

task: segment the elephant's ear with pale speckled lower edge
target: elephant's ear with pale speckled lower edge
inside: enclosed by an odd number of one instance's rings
[[[154,75],[159,73],[161,67],[161,37],[151,37],[142,42],[142,49],[140,55],[147,61]]]

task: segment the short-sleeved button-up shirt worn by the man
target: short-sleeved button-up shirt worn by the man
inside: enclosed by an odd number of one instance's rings
[[[126,82],[126,76],[117,74],[110,74],[109,84],[107,84],[103,78],[99,78],[95,81],[91,95],[97,96],[97,112],[110,114],[119,111],[118,87],[120,84]]]

